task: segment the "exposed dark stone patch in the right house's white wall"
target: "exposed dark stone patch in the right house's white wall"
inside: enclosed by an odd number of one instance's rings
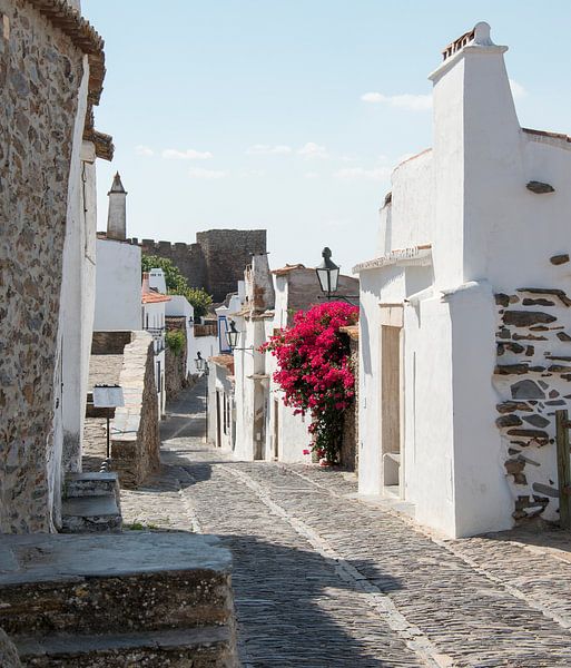
[[[569,257],[561,264],[567,264]],[[565,269],[562,268],[562,277]],[[494,386],[516,522],[559,519],[555,415],[571,400],[571,298],[555,287],[496,294]]]

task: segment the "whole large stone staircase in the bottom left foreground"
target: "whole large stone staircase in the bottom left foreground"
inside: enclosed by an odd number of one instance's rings
[[[230,554],[208,536],[6,536],[0,627],[23,667],[234,668]]]

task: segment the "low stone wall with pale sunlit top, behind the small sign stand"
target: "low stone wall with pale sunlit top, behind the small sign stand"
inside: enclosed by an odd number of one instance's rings
[[[132,488],[160,463],[155,354],[148,332],[132,332],[131,343],[125,346],[119,384],[125,406],[115,411],[111,422],[111,464],[121,487]]]

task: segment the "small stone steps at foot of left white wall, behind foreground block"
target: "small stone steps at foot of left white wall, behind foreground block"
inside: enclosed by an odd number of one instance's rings
[[[122,528],[117,473],[68,473],[61,503],[62,533],[119,532]]]

